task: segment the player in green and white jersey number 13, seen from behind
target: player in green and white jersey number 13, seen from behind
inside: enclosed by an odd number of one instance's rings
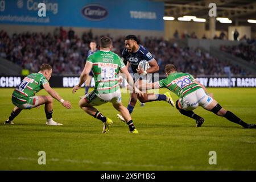
[[[108,133],[109,127],[113,125],[113,121],[102,115],[95,107],[112,102],[115,109],[121,112],[121,115],[125,119],[131,133],[138,133],[135,129],[133,120],[131,119],[130,113],[121,102],[121,91],[119,89],[118,72],[125,74],[129,84],[133,85],[135,93],[143,96],[143,93],[135,87],[133,78],[130,76],[123,64],[122,59],[110,51],[112,49],[112,40],[106,36],[100,39],[100,51],[93,53],[88,56],[84,70],[80,75],[79,85],[74,86],[73,93],[81,88],[86,78],[88,78],[89,72],[92,69],[95,87],[92,92],[86,94],[79,101],[79,106],[89,115],[94,118],[100,119],[103,122],[102,133]]]

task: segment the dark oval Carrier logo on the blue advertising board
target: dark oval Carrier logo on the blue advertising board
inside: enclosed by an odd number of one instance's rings
[[[108,14],[105,7],[97,4],[86,5],[82,8],[82,15],[89,20],[103,20]]]

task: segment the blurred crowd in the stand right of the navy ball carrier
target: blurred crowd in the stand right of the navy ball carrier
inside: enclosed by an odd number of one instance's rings
[[[250,74],[226,60],[218,60],[217,57],[211,56],[209,52],[200,48],[179,47],[176,43],[163,39],[149,38],[146,38],[142,44],[154,53],[160,67],[160,73],[164,73],[164,65],[175,64],[179,71],[192,75],[222,76],[226,75],[224,67],[230,67],[233,75]]]

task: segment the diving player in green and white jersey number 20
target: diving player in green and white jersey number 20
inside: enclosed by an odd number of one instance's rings
[[[180,99],[176,101],[177,110],[179,110],[181,114],[195,119],[196,127],[203,125],[204,118],[195,114],[192,110],[201,106],[208,111],[212,111],[214,114],[225,117],[229,121],[243,126],[245,129],[256,128],[255,124],[245,123],[231,111],[225,110],[221,107],[216,100],[209,96],[207,89],[205,89],[200,82],[196,81],[192,75],[177,72],[177,69],[173,64],[167,64],[164,71],[167,76],[165,79],[159,80],[150,85],[143,84],[139,87],[145,88],[147,86],[151,86],[152,89],[167,88],[171,90],[171,92],[180,97]]]

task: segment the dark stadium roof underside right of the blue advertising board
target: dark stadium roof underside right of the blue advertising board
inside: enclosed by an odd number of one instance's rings
[[[255,0],[151,0],[164,2],[166,16],[174,16],[177,19],[180,16],[191,15],[197,18],[208,19],[209,3],[216,3],[217,16],[231,19],[238,22],[239,25],[255,26],[256,24],[247,23],[247,19],[256,19],[256,1]],[[242,24],[241,24],[242,23]]]

